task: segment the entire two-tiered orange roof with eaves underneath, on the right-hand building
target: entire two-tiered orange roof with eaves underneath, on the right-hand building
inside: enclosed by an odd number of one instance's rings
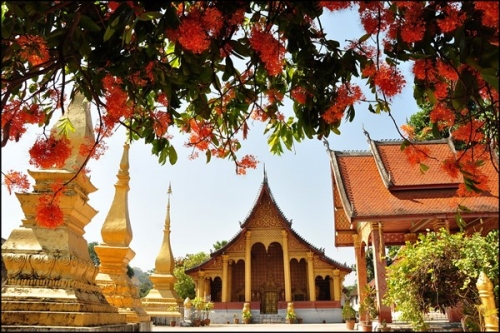
[[[430,152],[425,172],[408,161],[402,140],[368,142],[369,151],[330,151],[336,246],[353,245],[351,235],[358,222],[382,222],[384,231],[401,234],[394,244],[404,244],[404,233],[425,230],[435,219],[446,219],[451,229],[458,229],[458,205],[470,210],[461,212],[466,223],[498,218],[498,159],[485,161],[481,169],[489,190],[463,198],[456,194],[463,178],[453,179],[440,167],[440,161],[455,154],[450,141],[413,143]]]

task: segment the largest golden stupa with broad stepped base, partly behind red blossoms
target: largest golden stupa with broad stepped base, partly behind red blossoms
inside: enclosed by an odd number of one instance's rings
[[[88,194],[97,189],[78,172],[85,162],[78,153],[80,144],[94,140],[90,103],[77,94],[63,117],[75,128],[68,135],[73,149],[70,159],[61,169],[28,170],[35,179],[34,190],[16,193],[25,219],[2,245],[7,267],[2,331],[130,331],[132,324],[106,301],[95,283],[98,268],[83,238],[84,227],[97,214],[88,204]],[[64,222],[45,228],[35,219],[35,207],[41,196],[53,194],[54,183],[67,183],[59,203]]]

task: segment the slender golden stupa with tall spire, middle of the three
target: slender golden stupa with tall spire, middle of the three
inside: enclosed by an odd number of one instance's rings
[[[140,331],[151,331],[151,317],[142,307],[139,291],[127,275],[127,266],[135,257],[129,247],[132,241],[128,214],[129,148],[128,144],[123,146],[115,197],[101,229],[103,243],[94,247],[101,261],[96,283],[108,302],[127,316],[128,323],[139,323]]]

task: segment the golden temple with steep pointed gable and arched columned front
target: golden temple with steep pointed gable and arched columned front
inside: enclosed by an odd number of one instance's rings
[[[289,302],[304,323],[342,321],[342,282],[351,268],[327,257],[292,229],[273,198],[265,171],[255,204],[240,228],[210,259],[186,270],[196,283],[197,296],[214,302],[212,322],[240,316],[244,303],[250,303],[254,322],[269,316],[279,322]]]

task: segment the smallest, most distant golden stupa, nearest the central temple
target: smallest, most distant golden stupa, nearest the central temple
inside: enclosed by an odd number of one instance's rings
[[[174,276],[174,255],[170,246],[170,195],[172,188],[168,186],[167,217],[163,230],[163,243],[155,261],[155,272],[149,278],[153,289],[143,298],[142,304],[151,317],[180,318],[179,306],[182,300],[174,290],[177,278]]]

